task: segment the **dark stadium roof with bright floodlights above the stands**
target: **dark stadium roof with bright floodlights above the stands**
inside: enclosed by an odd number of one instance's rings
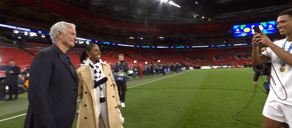
[[[114,18],[148,23],[196,23],[278,15],[290,0],[59,0]]]

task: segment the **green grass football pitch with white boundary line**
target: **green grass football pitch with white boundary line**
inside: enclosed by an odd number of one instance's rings
[[[249,102],[254,85],[252,68],[201,69],[131,79],[126,107],[121,109],[125,128],[256,128],[234,120],[233,116]],[[168,77],[171,76],[171,77]],[[161,80],[157,80],[167,77]],[[259,81],[262,85],[262,81]],[[260,86],[263,89],[263,86]],[[255,100],[237,119],[262,124],[266,94],[257,90]],[[17,101],[17,100],[16,100]],[[5,102],[0,102],[0,108]],[[78,102],[80,103],[80,102]],[[12,104],[13,105],[13,104]],[[20,105],[20,104],[19,104]],[[7,107],[7,106],[6,106]],[[13,106],[10,106],[13,107]],[[23,106],[27,107],[27,106]],[[1,110],[1,109],[0,109]],[[2,111],[1,111],[2,112]],[[0,120],[26,113],[26,110],[0,116]],[[25,116],[0,122],[3,128],[23,127]],[[77,120],[72,128],[76,128]]]

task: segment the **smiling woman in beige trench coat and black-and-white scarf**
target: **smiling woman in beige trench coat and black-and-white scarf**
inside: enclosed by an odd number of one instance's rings
[[[88,59],[85,60],[85,57]],[[82,64],[76,69],[76,72],[79,78],[78,96],[82,100],[77,128],[122,128],[123,121],[120,120],[120,98],[117,86],[109,64],[100,60],[99,47],[96,44],[87,45],[80,56],[80,61]],[[92,65],[98,66],[98,63],[101,66],[96,70],[96,67],[93,68]],[[98,83],[96,76],[103,77],[102,80],[98,80],[100,86],[96,86]],[[102,98],[106,100],[102,100]]]

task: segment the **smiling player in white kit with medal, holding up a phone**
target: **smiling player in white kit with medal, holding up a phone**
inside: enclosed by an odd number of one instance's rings
[[[272,42],[261,31],[253,35],[252,63],[260,65],[271,61],[271,82],[265,106],[262,111],[263,128],[280,128],[284,122],[292,127],[292,9],[280,13],[277,18],[277,29],[285,39]],[[259,45],[268,48],[259,54]]]

